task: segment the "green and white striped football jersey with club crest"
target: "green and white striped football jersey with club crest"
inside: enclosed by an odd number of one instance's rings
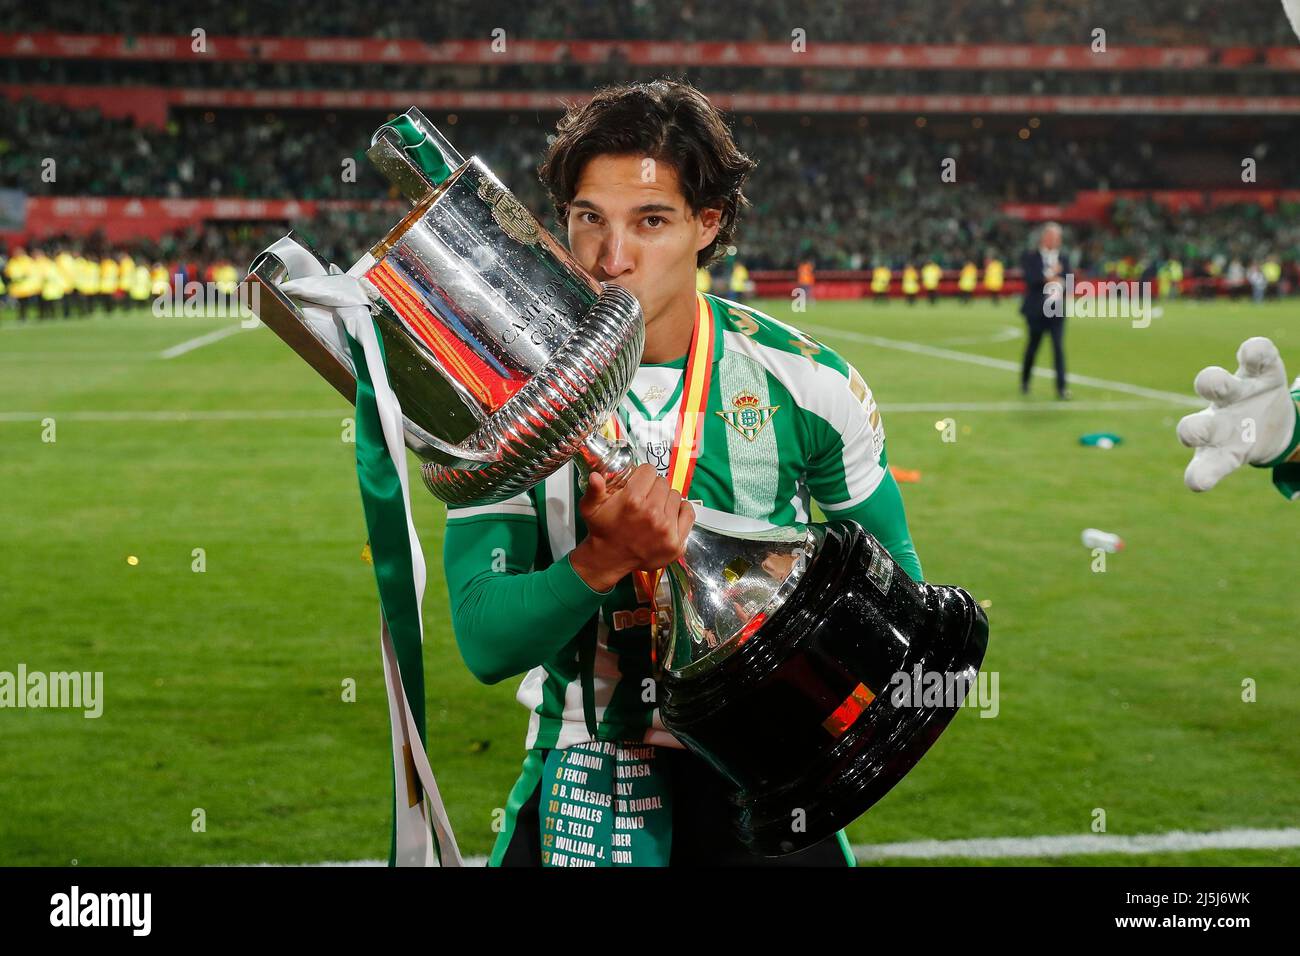
[[[828,518],[867,502],[885,484],[888,466],[884,427],[862,376],[833,350],[790,325],[716,295],[706,295],[706,300],[715,329],[714,372],[686,497],[781,527],[809,522],[814,501]],[[662,475],[675,442],[684,365],[685,358],[641,365],[619,410],[642,460],[655,464]],[[888,485],[906,538],[901,499],[892,479]],[[580,498],[576,470],[568,464],[525,494],[498,505],[448,509],[447,519],[450,527],[491,515],[534,520],[537,553],[523,555],[521,566],[528,567],[530,557],[533,570],[541,571],[585,535]],[[910,538],[906,548],[914,562]],[[914,576],[919,576],[919,564]],[[649,624],[646,596],[637,593],[629,576],[604,600],[585,633],[575,635],[555,657],[524,676],[517,700],[529,711],[528,749],[563,749],[592,740],[589,717],[598,740],[681,747],[664,730],[655,706]],[[459,637],[473,640],[473,635]]]

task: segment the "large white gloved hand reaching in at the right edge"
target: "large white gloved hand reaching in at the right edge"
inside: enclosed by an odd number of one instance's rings
[[[1235,375],[1218,365],[1200,371],[1196,394],[1210,407],[1178,423],[1178,440],[1196,449],[1183,475],[1193,492],[1208,492],[1245,462],[1271,462],[1295,433],[1296,410],[1278,347],[1256,336],[1236,350],[1236,360]]]

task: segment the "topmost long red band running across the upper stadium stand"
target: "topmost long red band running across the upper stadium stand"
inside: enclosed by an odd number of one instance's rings
[[[1300,70],[1288,47],[1109,47],[1046,44],[827,43],[816,31],[781,43],[658,40],[521,40],[503,31],[482,39],[424,40],[304,36],[165,36],[0,34],[0,57],[151,61],[503,64],[611,60],[637,66],[784,66],[898,70],[1188,70],[1260,65]]]

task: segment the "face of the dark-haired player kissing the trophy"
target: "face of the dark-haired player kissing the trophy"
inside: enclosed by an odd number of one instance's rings
[[[573,256],[641,302],[649,325],[694,295],[696,254],[718,234],[719,209],[692,215],[677,170],[642,156],[595,156],[569,203]]]

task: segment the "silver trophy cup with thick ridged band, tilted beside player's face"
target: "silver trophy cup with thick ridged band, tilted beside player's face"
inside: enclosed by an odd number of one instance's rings
[[[250,267],[259,317],[351,399],[346,345],[278,289],[286,258],[272,247]],[[636,466],[599,428],[641,360],[641,306],[592,278],[481,160],[432,187],[358,265],[407,445],[439,498],[502,501],[575,457],[615,483]]]

